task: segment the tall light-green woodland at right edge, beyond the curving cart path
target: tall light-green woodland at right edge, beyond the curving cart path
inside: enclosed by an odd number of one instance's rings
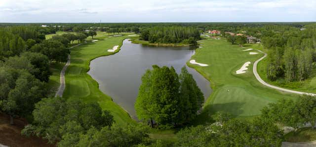
[[[308,79],[316,67],[315,25],[307,25],[302,30],[291,27],[268,29],[269,33],[262,37],[262,44],[269,50],[268,79],[285,79],[286,82]]]

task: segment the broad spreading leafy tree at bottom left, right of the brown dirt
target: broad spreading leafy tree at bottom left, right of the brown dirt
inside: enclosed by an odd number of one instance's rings
[[[59,145],[76,144],[89,129],[99,130],[114,122],[109,111],[102,111],[99,104],[83,103],[78,99],[44,98],[35,104],[34,121],[22,130],[24,135],[35,135]]]

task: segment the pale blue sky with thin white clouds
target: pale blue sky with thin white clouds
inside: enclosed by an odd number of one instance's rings
[[[316,22],[316,0],[0,0],[0,23]]]

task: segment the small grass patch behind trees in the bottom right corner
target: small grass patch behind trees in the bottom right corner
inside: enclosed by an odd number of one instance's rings
[[[310,142],[316,140],[316,130],[312,127],[301,128],[294,132],[284,135],[285,142]]]

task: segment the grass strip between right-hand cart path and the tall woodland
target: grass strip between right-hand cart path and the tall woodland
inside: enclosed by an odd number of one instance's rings
[[[244,47],[252,48],[252,49],[259,49],[264,52],[268,52],[268,50],[264,49],[262,45],[260,44],[246,44]],[[297,90],[297,91],[304,91],[304,92],[312,92],[316,93],[316,68],[313,69],[312,74],[309,79],[305,81],[296,81],[287,83],[284,79],[279,79],[277,81],[269,81],[267,78],[267,64],[268,64],[268,58],[263,59],[258,63],[258,73],[262,80],[265,82],[275,85],[282,88]]]

